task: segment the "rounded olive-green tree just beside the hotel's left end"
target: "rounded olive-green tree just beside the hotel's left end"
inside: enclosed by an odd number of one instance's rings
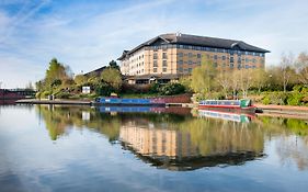
[[[102,71],[101,78],[104,82],[112,86],[115,90],[119,90],[122,86],[122,75],[115,68],[106,68]]]

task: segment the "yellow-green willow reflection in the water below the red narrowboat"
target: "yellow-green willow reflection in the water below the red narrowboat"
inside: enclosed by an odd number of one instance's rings
[[[181,124],[180,129],[190,133],[201,155],[263,150],[263,131],[255,124],[194,118]]]

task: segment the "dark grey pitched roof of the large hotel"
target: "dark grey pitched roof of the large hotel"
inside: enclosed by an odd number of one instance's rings
[[[157,37],[153,37],[138,45],[132,50],[123,53],[123,55],[118,58],[118,60],[122,60],[126,55],[133,54],[134,52],[145,46],[152,45],[158,39],[162,39],[163,42],[166,42],[166,44],[196,45],[196,46],[227,48],[227,49],[232,49],[237,46],[239,47],[239,49],[244,52],[247,50],[247,52],[258,52],[258,53],[270,53],[270,50],[249,45],[242,41],[170,33],[170,34],[162,34]]]

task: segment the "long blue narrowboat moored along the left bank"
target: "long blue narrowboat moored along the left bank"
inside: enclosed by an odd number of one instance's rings
[[[162,100],[156,99],[128,99],[128,98],[96,98],[94,104],[99,105],[166,105]]]

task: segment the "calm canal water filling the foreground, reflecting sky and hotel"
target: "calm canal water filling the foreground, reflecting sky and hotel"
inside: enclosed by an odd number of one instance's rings
[[[0,106],[0,191],[307,191],[308,121]]]

